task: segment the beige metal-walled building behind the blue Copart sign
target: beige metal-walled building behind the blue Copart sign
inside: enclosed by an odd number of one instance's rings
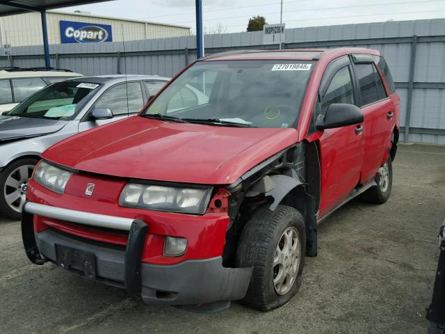
[[[107,6],[113,5],[109,4]],[[125,41],[190,35],[190,27],[188,26],[106,17],[84,12],[66,13],[51,10],[47,12],[48,40],[50,45],[63,42],[62,38],[65,30],[61,28],[60,21],[83,22],[88,23],[88,26],[106,24],[111,26],[109,29],[112,32],[113,42],[122,41],[122,30]],[[4,44],[10,44],[13,47],[43,45],[40,13],[30,12],[0,17],[0,45]]]

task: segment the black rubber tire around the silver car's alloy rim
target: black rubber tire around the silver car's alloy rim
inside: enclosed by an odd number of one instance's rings
[[[13,187],[6,186],[6,180],[8,180],[8,177],[10,177],[11,173],[14,173],[14,171],[17,170],[17,168],[21,166],[35,166],[35,164],[37,163],[38,159],[33,159],[33,158],[20,159],[6,166],[6,168],[0,173],[0,213],[3,216],[7,216],[9,218],[17,220],[22,218],[22,214],[20,212],[17,212],[15,209],[12,209],[10,205],[8,205],[8,202],[6,201],[6,195],[13,192]],[[29,167],[28,170],[29,173],[28,177],[26,178],[26,183],[29,177],[31,177],[32,168]],[[14,177],[17,180],[21,178],[19,173],[20,172],[17,172],[17,175],[14,175]],[[17,199],[17,202],[14,202],[13,206],[19,206],[20,203],[22,203],[22,201],[23,201],[22,198]]]

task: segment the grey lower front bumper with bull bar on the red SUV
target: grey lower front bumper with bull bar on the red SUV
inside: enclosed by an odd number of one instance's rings
[[[34,232],[34,214],[63,218],[73,223],[128,229],[127,246],[110,247],[51,229]],[[26,255],[36,264],[43,264],[47,260],[58,263],[57,249],[64,246],[94,254],[95,273],[92,278],[124,287],[131,294],[140,295],[147,304],[192,305],[243,298],[248,289],[252,268],[225,268],[221,257],[186,260],[171,265],[143,263],[141,258],[148,228],[140,219],[132,221],[129,218],[76,212],[33,202],[24,205],[22,214],[22,237]],[[81,275],[85,273],[84,268],[78,264],[67,269]]]

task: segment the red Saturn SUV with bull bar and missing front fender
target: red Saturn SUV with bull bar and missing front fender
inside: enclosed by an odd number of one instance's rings
[[[277,308],[298,291],[323,218],[356,196],[389,197],[399,113],[379,51],[207,56],[139,116],[42,154],[26,254],[149,304]]]

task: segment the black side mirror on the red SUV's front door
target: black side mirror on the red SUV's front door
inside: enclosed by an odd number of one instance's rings
[[[325,116],[318,116],[317,129],[333,129],[362,123],[363,112],[358,106],[346,103],[333,103],[327,107]]]

